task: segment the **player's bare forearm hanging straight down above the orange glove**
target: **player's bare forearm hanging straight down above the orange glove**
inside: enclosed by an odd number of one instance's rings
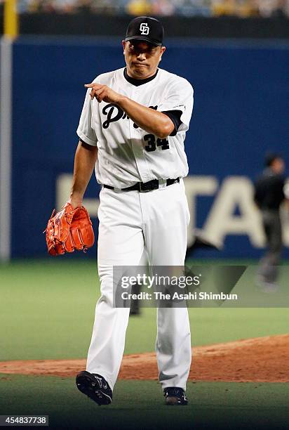
[[[98,158],[98,148],[79,141],[74,157],[74,173],[69,203],[72,207],[82,206],[83,195],[90,181],[95,162]]]

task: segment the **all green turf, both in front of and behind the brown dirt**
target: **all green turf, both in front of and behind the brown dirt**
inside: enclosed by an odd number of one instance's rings
[[[238,288],[249,294],[254,273],[246,272]],[[288,277],[285,266],[281,282]],[[100,294],[95,262],[0,265],[0,294],[0,360],[86,357]],[[288,308],[190,308],[189,315],[193,345],[289,327]],[[130,318],[125,353],[154,351],[155,336],[156,310],[144,308]],[[52,429],[288,429],[288,384],[189,382],[187,395],[188,406],[171,408],[158,383],[118,381],[112,405],[100,408],[74,378],[0,374],[0,415],[49,415]]]

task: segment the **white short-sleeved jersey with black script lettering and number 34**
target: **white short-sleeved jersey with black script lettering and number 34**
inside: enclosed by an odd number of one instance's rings
[[[100,74],[93,82],[105,84],[141,105],[162,111],[180,110],[182,124],[175,136],[160,139],[141,129],[113,103],[90,99],[88,89],[76,131],[81,141],[98,146],[95,175],[98,183],[126,188],[136,182],[184,177],[188,174],[184,138],[193,109],[194,90],[176,74],[159,69],[156,77],[135,86],[124,77],[124,67]]]

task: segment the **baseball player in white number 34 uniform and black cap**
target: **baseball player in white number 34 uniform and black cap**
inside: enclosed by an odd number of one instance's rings
[[[99,405],[112,402],[129,308],[113,306],[113,266],[183,266],[189,209],[184,138],[193,108],[186,79],[159,68],[166,47],[159,20],[138,17],[122,42],[126,67],[91,84],[79,121],[69,204],[81,207],[95,167],[100,191],[98,273],[101,297],[86,371],[76,386]],[[191,364],[187,308],[157,310],[156,356],[168,405],[186,405]]]

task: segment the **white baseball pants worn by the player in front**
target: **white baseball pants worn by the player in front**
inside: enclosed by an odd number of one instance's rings
[[[100,191],[98,273],[101,297],[86,370],[101,374],[111,389],[119,374],[129,308],[113,307],[113,266],[137,266],[144,250],[152,266],[183,266],[189,209],[184,183],[139,193]],[[186,389],[191,365],[187,308],[157,309],[156,358],[162,388]]]

